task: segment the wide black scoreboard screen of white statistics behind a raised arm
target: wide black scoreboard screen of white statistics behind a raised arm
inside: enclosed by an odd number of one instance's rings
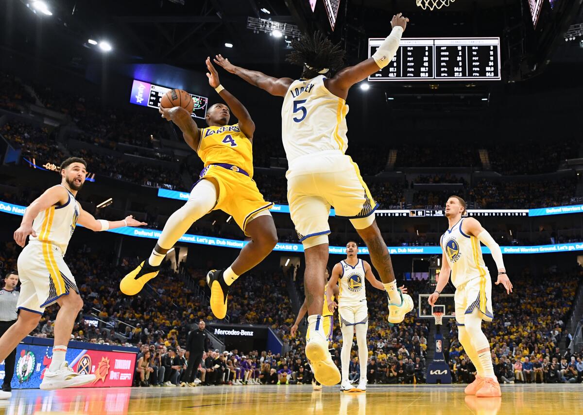
[[[368,39],[373,56],[384,38]],[[368,77],[381,80],[500,80],[500,38],[403,38],[393,60]]]

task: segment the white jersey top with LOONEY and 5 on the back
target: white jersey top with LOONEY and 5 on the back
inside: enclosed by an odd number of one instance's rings
[[[297,157],[326,150],[344,154],[348,147],[348,105],[326,89],[324,79],[295,80],[283,99],[282,140],[290,167]]]

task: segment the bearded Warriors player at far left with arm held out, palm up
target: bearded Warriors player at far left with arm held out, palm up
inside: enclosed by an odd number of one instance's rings
[[[85,212],[75,196],[85,182],[86,166],[78,157],[63,161],[61,184],[48,188],[26,208],[20,227],[14,233],[16,244],[24,247],[18,256],[22,285],[17,303],[18,319],[0,338],[0,361],[36,328],[45,307],[59,304],[52,361],[40,384],[44,390],[85,385],[95,379],[95,375],[78,374],[65,361],[75,319],[83,308],[75,277],[63,259],[75,227],[81,224],[93,231],[104,231],[145,225],[132,216],[118,221],[96,220]],[[0,398],[10,397],[9,392],[0,393]]]

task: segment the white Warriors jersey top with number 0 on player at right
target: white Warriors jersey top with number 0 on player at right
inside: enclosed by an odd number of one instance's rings
[[[482,258],[480,241],[462,232],[463,219],[441,235],[440,245],[451,267],[451,283],[454,287],[480,276],[490,275]]]

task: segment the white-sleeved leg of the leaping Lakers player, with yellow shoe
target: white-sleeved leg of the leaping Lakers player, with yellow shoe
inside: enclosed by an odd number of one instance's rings
[[[214,180],[214,179],[211,179]],[[192,226],[195,221],[209,213],[216,205],[217,186],[211,180],[198,181],[190,197],[182,208],[171,214],[164,225],[164,230],[154,247],[150,258],[142,261],[137,268],[128,273],[120,282],[120,290],[127,296],[135,296],[142,291],[145,284],[156,277],[160,263],[174,244]]]

